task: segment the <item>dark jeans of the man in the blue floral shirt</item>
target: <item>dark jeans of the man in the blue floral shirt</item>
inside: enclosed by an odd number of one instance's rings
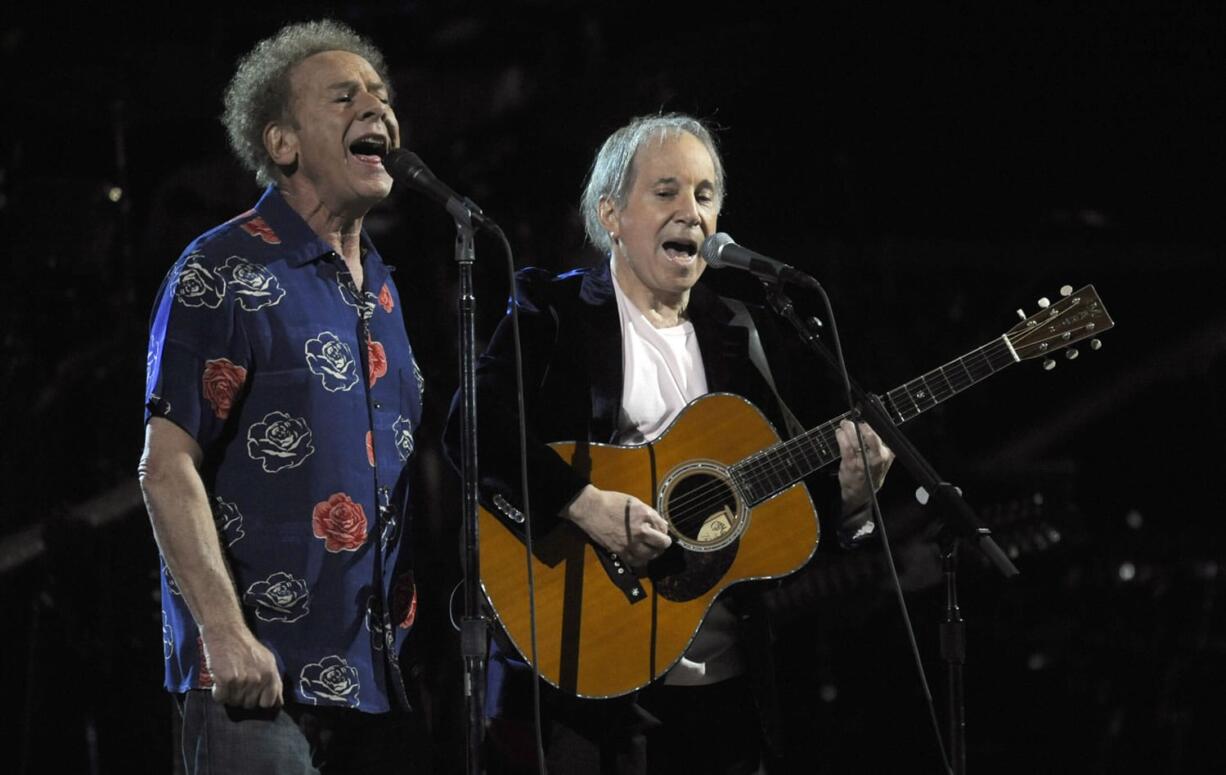
[[[188,775],[428,773],[430,752],[411,714],[364,714],[288,704],[244,710],[188,692],[183,759]]]

